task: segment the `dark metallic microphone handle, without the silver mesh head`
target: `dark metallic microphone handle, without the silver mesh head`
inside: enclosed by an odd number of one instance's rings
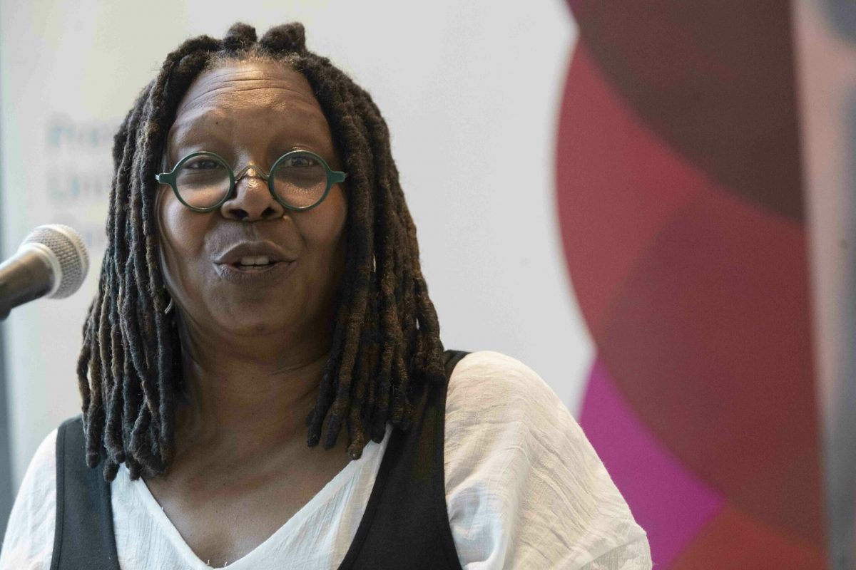
[[[53,285],[53,268],[45,254],[34,249],[18,251],[0,264],[0,320],[9,311],[42,297]]]

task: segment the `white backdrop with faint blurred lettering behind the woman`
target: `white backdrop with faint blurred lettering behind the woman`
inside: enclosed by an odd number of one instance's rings
[[[592,347],[554,207],[576,38],[564,2],[18,0],[0,18],[3,257],[54,222],[83,233],[93,257],[82,291],[15,309],[4,325],[15,489],[45,435],[80,413],[74,368],[104,252],[112,134],[169,50],[235,21],[259,36],[302,21],[309,48],[372,93],[444,344],[526,362],[576,413]]]

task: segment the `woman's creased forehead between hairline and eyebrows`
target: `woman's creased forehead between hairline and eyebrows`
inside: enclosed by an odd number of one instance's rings
[[[205,132],[284,130],[330,138],[330,127],[306,78],[276,62],[224,62],[200,73],[179,103],[169,146]]]

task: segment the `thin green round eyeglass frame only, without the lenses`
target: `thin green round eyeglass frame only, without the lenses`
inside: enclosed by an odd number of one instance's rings
[[[223,166],[225,166],[229,171],[229,191],[226,192],[220,202],[214,204],[213,206],[208,206],[206,208],[199,208],[188,204],[184,200],[184,198],[181,197],[181,192],[178,191],[178,186],[175,184],[175,179],[177,177],[179,169],[187,161],[190,161],[199,156],[210,156],[217,162],[223,164]],[[270,173],[274,172],[276,170],[276,167],[278,167],[280,163],[288,160],[289,158],[293,158],[294,156],[311,156],[313,159],[318,161],[321,166],[324,167],[324,171],[327,173],[327,185],[324,188],[324,193],[321,195],[321,197],[318,198],[318,201],[316,203],[313,203],[309,206],[294,206],[289,203],[286,203],[279,196],[277,196],[276,191],[274,191],[273,188],[273,179],[270,176]],[[285,153],[284,155],[276,159],[276,162],[274,162],[273,166],[270,167],[270,172],[265,172],[263,169],[255,166],[254,164],[248,164],[246,167],[241,168],[241,171],[237,174],[235,174],[235,171],[229,165],[229,162],[227,162],[226,159],[223,158],[223,156],[220,156],[216,152],[211,152],[209,150],[199,150],[197,152],[192,152],[182,158],[168,173],[155,174],[155,179],[158,180],[160,184],[168,184],[169,186],[171,186],[175,197],[178,198],[179,202],[187,206],[187,208],[192,209],[194,212],[212,212],[216,209],[219,209],[221,206],[223,206],[224,203],[228,202],[235,195],[235,181],[243,178],[244,174],[246,174],[251,168],[259,174],[259,178],[267,182],[268,191],[270,191],[270,196],[272,196],[276,200],[276,203],[279,203],[282,208],[286,208],[295,212],[303,212],[308,209],[315,208],[316,206],[318,206],[318,204],[324,202],[324,198],[326,198],[327,194],[330,193],[330,188],[332,188],[334,184],[344,182],[345,179],[348,177],[347,173],[336,171],[330,168],[330,165],[328,165],[327,162],[323,158],[321,158],[321,156],[318,156],[311,150],[291,150],[290,152]]]

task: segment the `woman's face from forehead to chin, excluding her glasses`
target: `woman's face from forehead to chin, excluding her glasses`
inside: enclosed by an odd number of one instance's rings
[[[251,163],[270,172],[279,156],[297,149],[342,170],[306,79],[276,63],[227,62],[200,74],[181,101],[166,166],[210,150],[236,173]],[[162,185],[164,279],[187,326],[228,338],[282,332],[286,343],[328,338],[347,215],[340,185],[316,208],[294,212],[276,202],[253,170],[220,209],[207,213],[188,209]]]

